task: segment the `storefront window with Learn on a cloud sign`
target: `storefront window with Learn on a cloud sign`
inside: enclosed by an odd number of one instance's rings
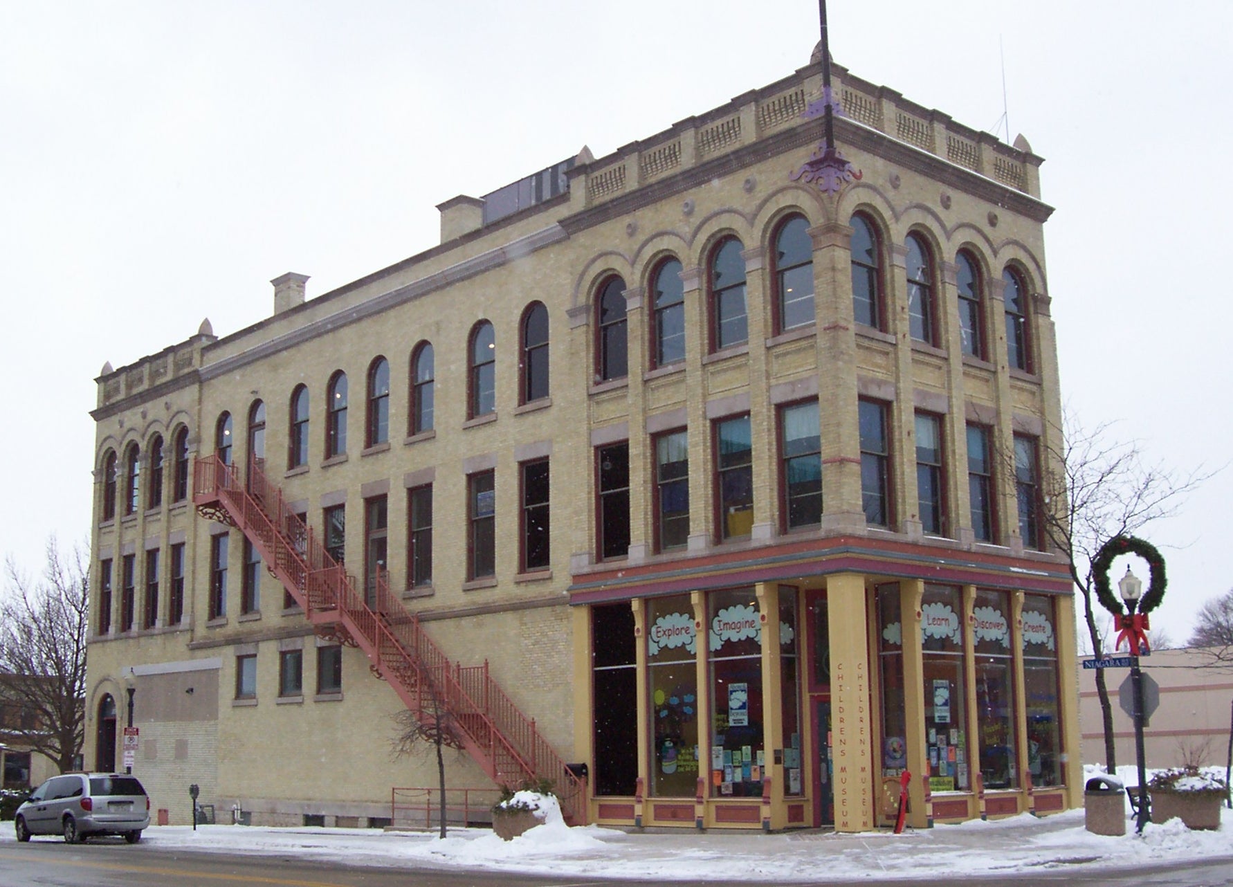
[[[963,601],[958,588],[926,585],[921,602],[925,674],[925,740],[930,788],[968,791],[969,745],[964,729]]]

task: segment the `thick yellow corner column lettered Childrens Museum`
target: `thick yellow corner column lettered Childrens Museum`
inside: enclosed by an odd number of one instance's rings
[[[868,831],[873,822],[873,732],[866,591],[861,574],[826,580],[831,649],[835,830]]]

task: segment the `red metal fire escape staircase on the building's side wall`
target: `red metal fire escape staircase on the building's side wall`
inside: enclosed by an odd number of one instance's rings
[[[583,783],[488,675],[488,662],[450,662],[390,593],[380,572],[369,595],[360,591],[314,537],[287,508],[282,491],[258,464],[248,484],[239,471],[210,455],[196,461],[192,502],[203,517],[239,529],[260,553],[305,616],[322,634],[367,654],[375,675],[385,679],[417,720],[449,718],[464,748],[502,786],[549,780],[567,822],[586,822]]]

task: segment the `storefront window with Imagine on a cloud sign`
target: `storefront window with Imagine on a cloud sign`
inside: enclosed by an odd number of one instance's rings
[[[762,624],[752,588],[710,596],[711,794],[762,797]]]

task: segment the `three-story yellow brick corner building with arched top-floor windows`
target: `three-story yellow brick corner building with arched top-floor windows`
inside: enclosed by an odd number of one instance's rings
[[[391,755],[409,708],[462,736],[453,786],[550,778],[575,822],[857,831],[901,780],[916,825],[1075,806],[1041,159],[834,94],[838,192],[798,173],[814,59],[105,366],[88,765],[131,699],[166,820],[195,783],[377,824],[435,785]]]

